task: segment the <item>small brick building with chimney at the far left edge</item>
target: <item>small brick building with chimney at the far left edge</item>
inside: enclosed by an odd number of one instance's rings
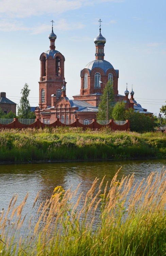
[[[16,114],[16,103],[6,98],[6,93],[0,93],[0,108],[5,114],[8,114],[12,111]]]

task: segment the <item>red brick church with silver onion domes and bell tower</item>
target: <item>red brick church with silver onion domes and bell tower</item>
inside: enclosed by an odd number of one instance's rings
[[[106,39],[101,34],[101,28],[99,30],[98,36],[94,39],[96,59],[81,70],[80,94],[69,100],[66,96],[65,57],[55,50],[56,35],[52,26],[49,35],[50,49],[40,55],[39,107],[36,107],[35,114],[41,122],[50,124],[60,118],[62,123],[69,124],[77,118],[79,122],[89,124],[97,117],[103,88],[109,80],[113,82],[116,102],[124,100],[126,108],[149,113],[134,100],[133,90],[130,99],[128,90],[125,91],[125,96],[118,94],[119,70],[114,69],[109,61],[104,60]]]

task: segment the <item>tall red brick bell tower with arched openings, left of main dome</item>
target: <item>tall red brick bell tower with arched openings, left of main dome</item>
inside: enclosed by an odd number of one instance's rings
[[[54,97],[54,102],[59,100],[62,94],[64,84],[64,62],[65,57],[55,50],[56,35],[53,32],[49,34],[50,49],[40,55],[40,81],[39,81],[39,108],[45,109],[51,106],[51,95]],[[65,83],[66,84],[66,83]]]

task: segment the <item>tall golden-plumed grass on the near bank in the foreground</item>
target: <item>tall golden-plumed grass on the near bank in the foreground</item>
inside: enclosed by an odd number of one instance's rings
[[[1,212],[0,255],[166,255],[166,171],[136,184],[134,174],[118,181],[118,172],[106,186],[96,178],[86,195],[56,188],[24,236],[28,195],[18,206],[14,196]]]

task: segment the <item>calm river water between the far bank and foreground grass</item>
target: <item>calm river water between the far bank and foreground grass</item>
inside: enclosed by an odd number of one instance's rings
[[[14,194],[18,194],[18,203],[27,193],[29,197],[25,212],[35,213],[42,201],[49,199],[54,187],[61,185],[65,190],[79,184],[79,194],[87,193],[95,177],[101,181],[111,181],[117,170],[122,166],[119,180],[123,175],[135,173],[135,179],[142,180],[152,171],[161,172],[166,160],[128,160],[98,162],[59,162],[59,163],[28,163],[0,165],[0,210],[7,209]],[[39,199],[32,210],[34,199],[40,192]]]

